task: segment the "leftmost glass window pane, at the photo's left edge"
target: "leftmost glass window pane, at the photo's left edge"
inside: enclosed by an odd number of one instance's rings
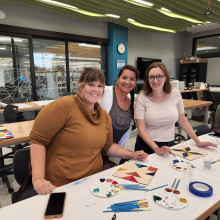
[[[28,39],[0,36],[0,99],[32,100]]]

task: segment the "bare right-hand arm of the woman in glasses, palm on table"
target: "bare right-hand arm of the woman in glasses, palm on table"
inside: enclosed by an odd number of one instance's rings
[[[215,144],[213,144],[211,142],[201,142],[198,139],[198,137],[196,136],[195,132],[192,129],[192,126],[190,125],[190,123],[186,119],[185,114],[179,114],[178,124],[187,133],[187,135],[195,141],[197,146],[199,146],[199,147],[206,147],[206,146],[217,147]]]

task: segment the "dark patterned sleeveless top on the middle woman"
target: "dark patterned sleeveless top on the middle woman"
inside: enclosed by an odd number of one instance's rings
[[[131,126],[131,109],[124,111],[119,107],[115,87],[113,88],[113,103],[109,114],[112,118],[113,141],[118,143]]]

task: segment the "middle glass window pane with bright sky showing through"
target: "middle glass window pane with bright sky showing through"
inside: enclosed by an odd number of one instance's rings
[[[38,100],[58,99],[67,90],[65,42],[33,38]]]

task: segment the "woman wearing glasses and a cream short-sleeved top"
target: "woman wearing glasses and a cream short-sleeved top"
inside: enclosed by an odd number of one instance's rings
[[[163,63],[152,63],[145,73],[144,90],[135,106],[138,136],[135,150],[148,154],[169,155],[174,145],[175,123],[191,137],[197,146],[213,146],[201,142],[185,117],[181,94],[172,89],[170,77]]]

